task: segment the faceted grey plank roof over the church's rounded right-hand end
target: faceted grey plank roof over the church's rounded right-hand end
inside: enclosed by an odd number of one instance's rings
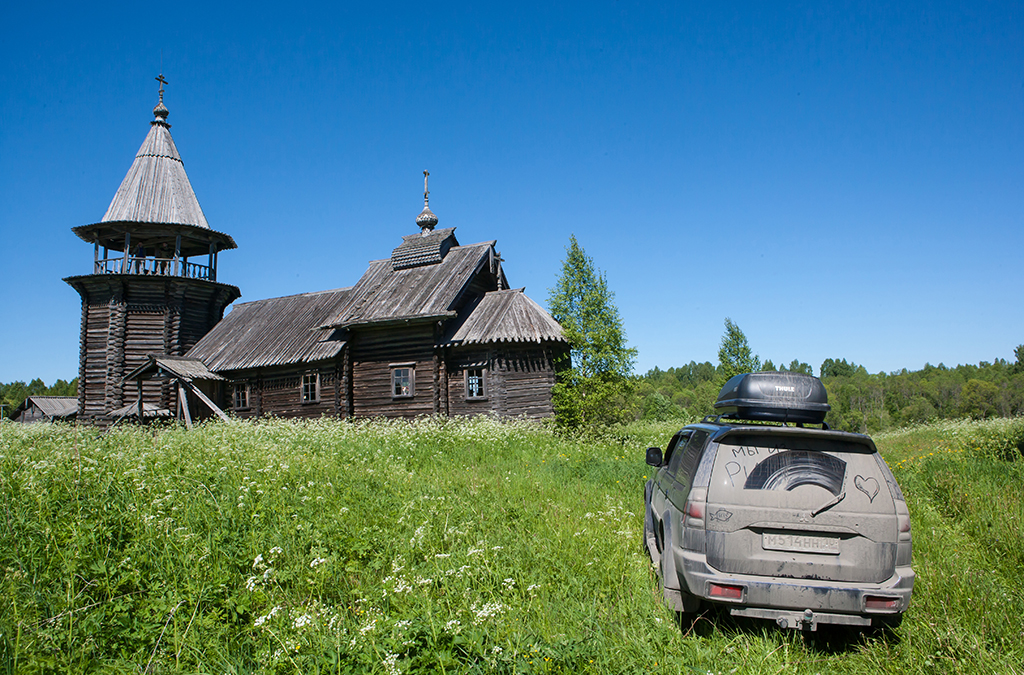
[[[523,291],[485,293],[453,327],[447,344],[565,342],[558,322]]]

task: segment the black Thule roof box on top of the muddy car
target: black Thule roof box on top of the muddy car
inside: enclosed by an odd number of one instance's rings
[[[821,380],[801,373],[736,375],[715,402],[715,412],[738,420],[821,424],[829,410]]]

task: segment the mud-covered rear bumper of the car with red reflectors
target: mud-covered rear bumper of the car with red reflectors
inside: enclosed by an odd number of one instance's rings
[[[894,617],[906,611],[913,590],[913,569],[896,567],[895,574],[882,583],[836,582],[818,579],[786,579],[725,575],[710,566],[702,553],[673,547],[680,584],[708,602],[734,605],[732,614],[774,619],[782,625],[805,617],[810,609],[814,623],[867,625],[871,618]],[[712,596],[712,585],[740,587],[736,599]],[[867,596],[895,600],[893,608],[868,608]],[[861,617],[863,621],[851,620]],[[792,626],[791,627],[797,627]],[[813,628],[812,628],[813,630]]]

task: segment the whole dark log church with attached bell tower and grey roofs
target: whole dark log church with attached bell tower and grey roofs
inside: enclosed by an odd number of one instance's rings
[[[212,229],[171,138],[162,77],[155,120],[103,218],[82,297],[78,419],[549,417],[568,366],[558,323],[510,289],[496,242],[437,229],[424,171],[419,233],[351,287],[236,304],[217,280],[234,241]]]

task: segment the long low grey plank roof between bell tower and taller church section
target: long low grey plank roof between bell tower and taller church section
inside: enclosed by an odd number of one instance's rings
[[[314,330],[347,302],[352,289],[303,293],[236,305],[188,351],[215,372],[310,364],[345,346]]]

